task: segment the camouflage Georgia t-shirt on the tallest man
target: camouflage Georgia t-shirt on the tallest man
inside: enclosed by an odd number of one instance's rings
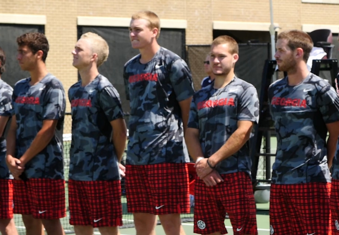
[[[188,162],[178,101],[194,94],[191,72],[178,55],[163,47],[147,64],[141,64],[140,57],[124,66],[131,105],[126,164]]]

